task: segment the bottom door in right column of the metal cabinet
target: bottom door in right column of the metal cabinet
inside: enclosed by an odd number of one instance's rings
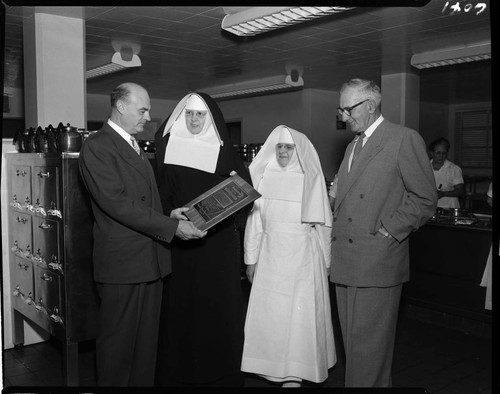
[[[35,265],[35,302],[51,315],[61,314],[61,285],[59,275]]]

